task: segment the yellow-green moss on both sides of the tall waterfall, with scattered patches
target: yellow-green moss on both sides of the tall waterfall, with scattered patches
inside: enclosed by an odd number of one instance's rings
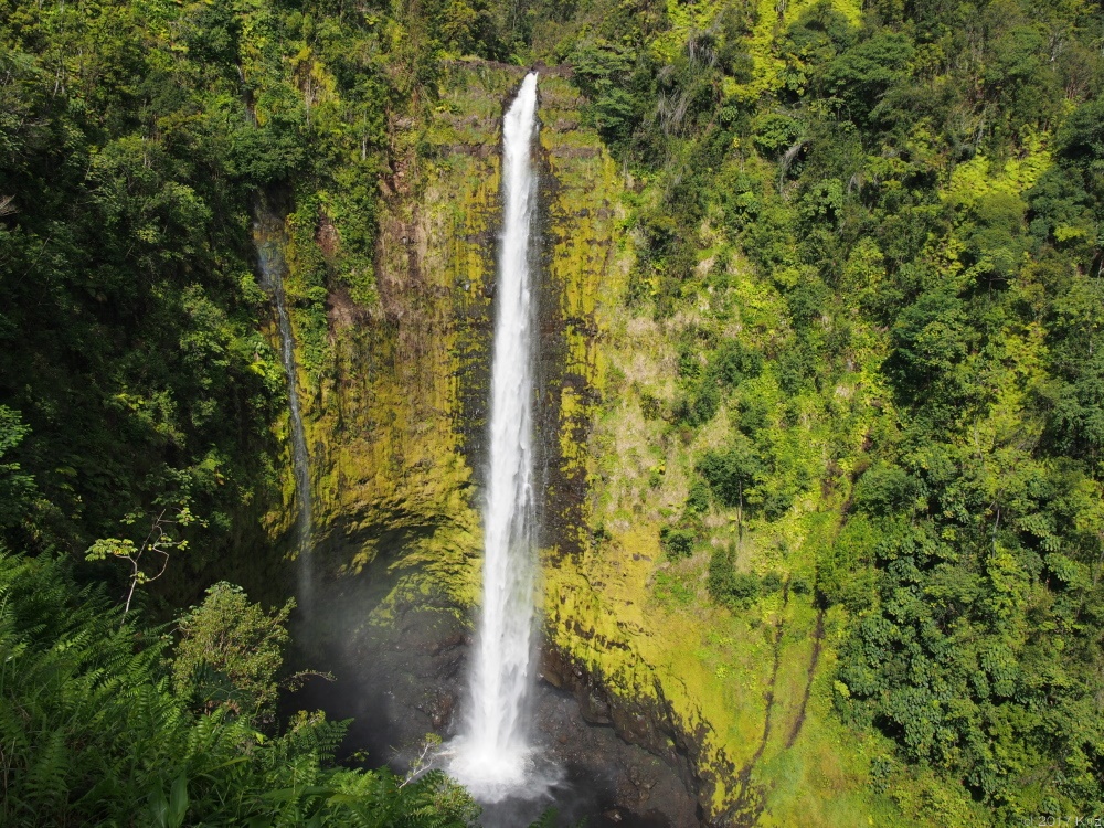
[[[761,18],[760,25],[775,23]],[[456,613],[477,599],[480,521],[465,435],[481,424],[465,422],[464,394],[489,353],[480,350],[486,333],[469,317],[489,318],[484,288],[492,274],[499,213],[499,119],[520,77],[520,70],[456,64],[432,119],[400,136],[399,146],[423,151],[412,150],[389,184],[376,255],[379,301],[358,307],[347,296],[332,296],[332,355],[317,373],[300,376],[316,539],[336,550],[325,559],[329,574],[379,566],[389,552],[386,565],[399,575],[367,619],[371,624],[390,624],[400,606],[440,592]],[[581,102],[565,79],[543,77],[540,95],[541,147],[551,174],[544,182],[545,276],[563,323],[558,370],[570,380],[543,391],[559,417],[559,470],[583,495],[562,527],[571,554],[551,549],[543,555],[549,643],[586,666],[615,697],[651,701],[669,712],[700,746],[694,771],[714,814],[740,794],[733,768],[757,753],[752,782],[765,792],[764,825],[837,826],[857,816],[866,824],[899,813],[867,784],[878,746],[858,742],[830,714],[826,682],[837,644],[831,630],[839,625],[828,619],[804,725],[790,745],[818,620],[809,598],[792,595],[784,603],[774,596],[733,614],[708,599],[707,553],[664,560],[659,529],[686,498],[696,453],[722,440],[726,424],[722,414],[696,442],[682,444],[665,438],[662,424],[643,415],[643,393],[661,400],[675,393],[675,323],[625,308],[634,253],[623,225],[618,168],[598,137],[580,128]],[[734,259],[734,329],[790,336],[776,291],[742,267]],[[841,392],[840,405],[880,395],[863,365],[883,348],[877,338],[857,344],[858,379]],[[760,391],[778,393],[768,380]],[[811,446],[818,413],[806,414],[814,426],[797,436]],[[858,446],[868,424],[861,415],[852,423],[849,439]],[[649,477],[658,469],[652,485]],[[286,502],[293,496],[288,480]],[[807,498],[769,533],[746,534],[740,565],[810,572],[811,549],[830,542],[829,507],[838,507],[837,500]],[[732,514],[722,510],[710,520],[714,542],[735,538]],[[599,527],[604,540],[595,541]],[[406,532],[403,548],[384,550],[379,539],[400,530]],[[359,545],[342,545],[348,538]],[[666,598],[656,588],[662,580],[679,584],[690,599]],[[761,751],[768,690],[772,730]]]

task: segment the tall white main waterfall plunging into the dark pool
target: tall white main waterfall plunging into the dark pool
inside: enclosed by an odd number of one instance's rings
[[[502,120],[503,221],[499,240],[490,467],[484,510],[482,611],[471,671],[470,709],[450,771],[484,802],[526,782],[530,746],[526,701],[533,679],[533,340],[530,237],[537,213],[531,150],[537,73],[521,84]]]

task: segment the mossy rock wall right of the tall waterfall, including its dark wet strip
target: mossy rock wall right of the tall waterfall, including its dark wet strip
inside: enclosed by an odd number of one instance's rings
[[[747,612],[719,608],[705,591],[708,552],[678,562],[660,548],[693,458],[716,435],[690,445],[646,416],[648,395],[670,396],[688,320],[656,321],[627,302],[625,205],[647,184],[580,126],[585,102],[569,89],[542,82],[542,298],[554,335],[543,342],[541,385],[544,677],[573,690],[592,721],[678,768],[710,824],[904,825],[869,785],[881,745],[860,742],[831,710],[840,619],[788,584]],[[784,555],[800,569],[832,541],[838,507],[796,510],[785,549],[773,535],[747,539],[745,558]],[[719,538],[735,539],[733,516],[710,520]]]

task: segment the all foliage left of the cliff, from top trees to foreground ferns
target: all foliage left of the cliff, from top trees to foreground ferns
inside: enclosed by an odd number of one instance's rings
[[[254,223],[293,211],[309,365],[327,279],[372,301],[386,124],[450,36],[426,14],[0,2],[0,822],[473,818],[437,774],[332,769],[320,714],[278,732],[287,608],[227,586],[148,626],[272,560],[286,380]]]

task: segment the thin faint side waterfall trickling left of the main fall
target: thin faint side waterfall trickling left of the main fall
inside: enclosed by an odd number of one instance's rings
[[[291,466],[295,473],[295,495],[299,501],[296,518],[295,543],[299,560],[299,604],[309,611],[314,594],[314,577],[310,570],[310,465],[307,454],[307,436],[302,429],[302,414],[299,408],[299,392],[295,364],[295,339],[291,336],[291,320],[287,314],[284,296],[284,257],[279,248],[279,232],[272,225],[277,222],[258,210],[262,217],[254,225],[257,257],[261,263],[262,286],[268,290],[276,305],[276,327],[279,330],[280,361],[287,376],[288,408],[291,413]]]

